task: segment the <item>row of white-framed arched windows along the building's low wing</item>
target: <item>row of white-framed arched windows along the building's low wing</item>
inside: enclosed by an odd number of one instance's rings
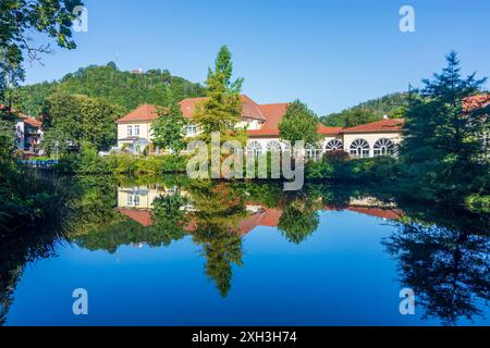
[[[394,154],[394,144],[390,139],[381,138],[375,142],[372,148],[373,156],[393,156]],[[290,146],[281,146],[278,140],[271,140],[267,142],[266,149],[264,151],[262,146],[259,141],[253,140],[247,146],[247,156],[260,156],[267,152],[280,152],[282,150],[290,150]],[[344,149],[344,144],[340,139],[333,139],[326,144],[324,149],[315,149],[309,147],[306,149],[307,156],[310,158],[318,158],[323,151],[341,151]],[[359,138],[355,139],[348,149],[348,153],[355,158],[367,158],[370,156],[369,142],[366,139]]]

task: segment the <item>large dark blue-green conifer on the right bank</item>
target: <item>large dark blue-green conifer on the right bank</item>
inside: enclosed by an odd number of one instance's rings
[[[483,82],[475,74],[462,77],[454,52],[448,55],[442,73],[424,80],[421,98],[413,100],[407,111],[400,149],[403,192],[452,203],[464,203],[471,194],[489,195],[489,158],[482,152],[488,111],[464,107]]]

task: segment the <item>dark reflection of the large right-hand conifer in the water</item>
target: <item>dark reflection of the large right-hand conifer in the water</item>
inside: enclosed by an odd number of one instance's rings
[[[485,216],[448,217],[445,226],[441,220],[440,226],[407,221],[384,244],[400,262],[402,284],[415,291],[425,309],[424,319],[455,325],[460,318],[481,315],[479,304],[490,298],[490,243]],[[457,228],[458,221],[468,229]]]

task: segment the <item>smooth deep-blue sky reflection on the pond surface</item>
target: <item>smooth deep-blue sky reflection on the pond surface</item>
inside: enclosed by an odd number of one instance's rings
[[[257,226],[244,236],[244,265],[233,265],[225,298],[189,236],[169,247],[121,246],[113,254],[59,247],[58,258],[26,268],[7,324],[440,324],[421,320],[419,307],[413,316],[399,312],[397,262],[381,244],[397,229],[379,217],[327,211],[317,232],[296,245],[275,227]],[[89,294],[85,318],[72,314],[78,287]]]

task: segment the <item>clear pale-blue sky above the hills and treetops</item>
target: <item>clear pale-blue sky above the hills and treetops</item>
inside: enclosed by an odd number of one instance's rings
[[[464,72],[490,75],[488,0],[85,0],[88,33],[56,49],[26,83],[115,61],[122,70],[168,69],[206,78],[220,46],[233,53],[244,92],[260,103],[299,98],[318,114],[417,86],[460,53]],[[401,33],[413,5],[416,32]],[[36,38],[39,39],[39,38]],[[487,84],[487,87],[489,85]]]

